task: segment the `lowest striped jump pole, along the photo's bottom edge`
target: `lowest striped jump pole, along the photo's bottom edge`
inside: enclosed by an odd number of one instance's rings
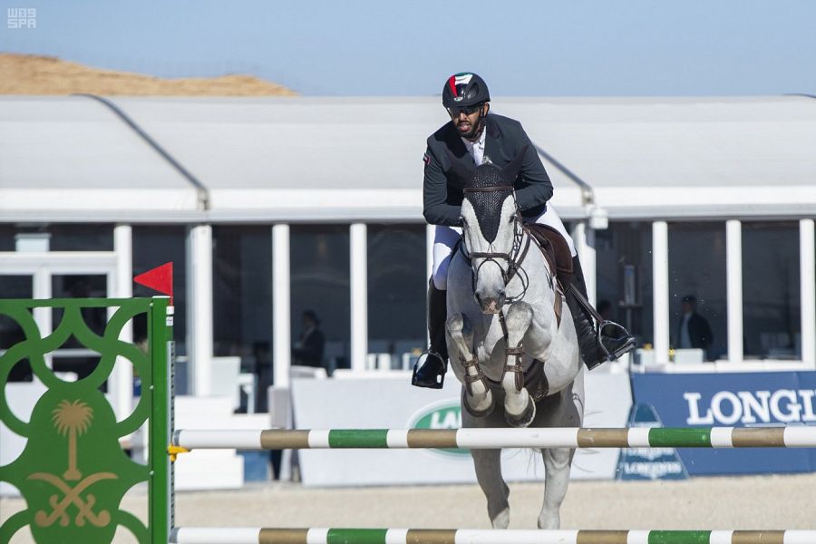
[[[816,530],[173,529],[171,544],[813,544]]]

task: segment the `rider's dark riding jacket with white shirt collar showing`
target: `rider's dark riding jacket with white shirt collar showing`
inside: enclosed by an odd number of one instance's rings
[[[547,210],[552,183],[539,154],[521,128],[509,117],[489,113],[485,118],[484,156],[503,168],[523,153],[521,168],[513,184],[516,200],[525,218],[535,218]],[[423,215],[432,225],[461,225],[461,201],[468,172],[476,168],[453,122],[442,125],[428,137],[423,185]]]

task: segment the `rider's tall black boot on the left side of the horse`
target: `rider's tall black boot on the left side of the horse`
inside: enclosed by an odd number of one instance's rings
[[[445,320],[448,306],[445,291],[437,289],[433,280],[428,282],[428,333],[431,347],[420,355],[413,365],[411,384],[417,387],[442,389],[448,370],[448,343],[445,338]]]

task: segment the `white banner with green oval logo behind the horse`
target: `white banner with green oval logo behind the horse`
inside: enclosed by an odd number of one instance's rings
[[[442,390],[418,389],[410,377],[296,379],[292,382],[296,427],[301,429],[455,429],[461,424],[460,387],[451,373]],[[586,426],[623,427],[632,405],[627,374],[585,375]],[[616,449],[580,450],[574,479],[615,478]],[[312,486],[357,486],[476,481],[473,461],[461,450],[301,450],[301,478]],[[541,456],[505,450],[508,481],[543,481]]]

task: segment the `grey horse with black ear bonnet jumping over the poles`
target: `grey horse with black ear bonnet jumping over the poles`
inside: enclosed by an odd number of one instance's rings
[[[570,313],[560,312],[566,305],[555,272],[522,223],[512,187],[518,162],[505,170],[482,164],[463,189],[462,237],[448,269],[445,323],[453,373],[462,384],[462,426],[579,427],[584,386],[578,339]],[[541,451],[546,473],[539,529],[559,529],[574,453]],[[500,454],[471,450],[492,527],[507,529],[510,489]]]

